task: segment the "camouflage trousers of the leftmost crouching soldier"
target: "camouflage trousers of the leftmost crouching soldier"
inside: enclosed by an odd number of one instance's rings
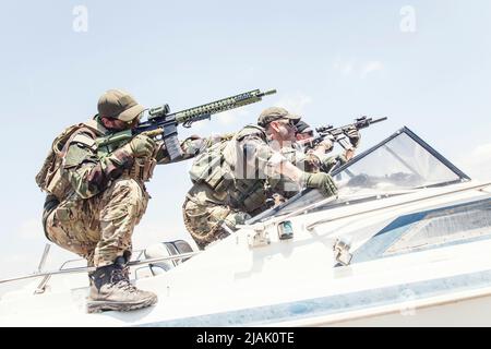
[[[120,178],[89,198],[67,198],[46,218],[49,240],[87,260],[110,265],[131,255],[131,236],[146,210],[148,194],[133,179]]]

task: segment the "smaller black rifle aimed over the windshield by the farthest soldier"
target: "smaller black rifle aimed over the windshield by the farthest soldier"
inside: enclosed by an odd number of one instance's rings
[[[333,125],[320,127],[315,129],[315,131],[318,132],[318,135],[315,137],[306,140],[304,142],[301,142],[301,144],[303,146],[314,148],[319,143],[327,139],[333,143],[334,142],[339,143],[339,145],[343,146],[343,148],[349,149],[351,148],[351,145],[346,135],[349,129],[351,128],[356,128],[357,130],[366,129],[372,123],[378,123],[385,120],[387,120],[387,118],[380,118],[373,120],[372,118],[361,117],[355,119],[354,123],[340,128],[334,128]]]

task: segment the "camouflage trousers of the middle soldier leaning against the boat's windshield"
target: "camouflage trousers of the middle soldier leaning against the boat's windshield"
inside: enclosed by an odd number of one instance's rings
[[[251,218],[249,214],[226,205],[199,203],[190,197],[187,197],[182,205],[182,215],[185,228],[201,250],[229,234],[221,227],[223,224],[233,230],[237,225],[242,225]]]

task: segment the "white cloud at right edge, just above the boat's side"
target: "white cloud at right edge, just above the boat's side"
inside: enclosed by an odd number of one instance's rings
[[[462,170],[470,178],[478,180],[491,179],[491,143],[477,146],[459,161]]]

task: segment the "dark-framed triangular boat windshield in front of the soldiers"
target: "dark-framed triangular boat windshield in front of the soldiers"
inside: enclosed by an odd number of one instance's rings
[[[338,186],[338,198],[326,206],[347,201],[376,198],[428,186],[447,185],[469,178],[452,163],[403,128],[380,144],[358,155],[332,172]],[[322,201],[319,191],[306,190],[285,204],[251,220],[283,215]]]

